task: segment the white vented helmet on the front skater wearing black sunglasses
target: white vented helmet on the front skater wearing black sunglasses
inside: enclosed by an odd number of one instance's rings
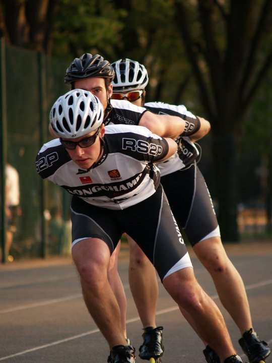
[[[78,138],[96,130],[103,123],[104,110],[91,92],[74,89],[53,104],[49,119],[55,134],[62,138]]]

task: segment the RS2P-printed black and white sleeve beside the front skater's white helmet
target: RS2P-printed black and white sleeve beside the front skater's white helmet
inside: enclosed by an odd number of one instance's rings
[[[105,129],[110,152],[149,162],[159,161],[168,153],[167,141],[143,126],[109,125]]]

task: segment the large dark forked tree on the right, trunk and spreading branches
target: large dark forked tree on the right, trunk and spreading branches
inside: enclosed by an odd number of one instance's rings
[[[238,240],[238,141],[272,64],[272,1],[175,0],[174,7],[198,96],[213,127],[222,235]]]

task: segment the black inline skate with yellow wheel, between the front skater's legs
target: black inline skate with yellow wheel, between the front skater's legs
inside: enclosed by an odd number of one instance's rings
[[[148,327],[144,329],[142,335],[144,343],[139,348],[139,356],[141,359],[149,360],[150,363],[161,363],[161,356],[164,352],[162,344],[163,327]]]

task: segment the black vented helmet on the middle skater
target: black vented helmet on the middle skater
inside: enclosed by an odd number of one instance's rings
[[[101,77],[114,78],[114,70],[110,63],[101,55],[84,53],[80,58],[75,58],[66,69],[64,83],[73,83],[83,78]]]

